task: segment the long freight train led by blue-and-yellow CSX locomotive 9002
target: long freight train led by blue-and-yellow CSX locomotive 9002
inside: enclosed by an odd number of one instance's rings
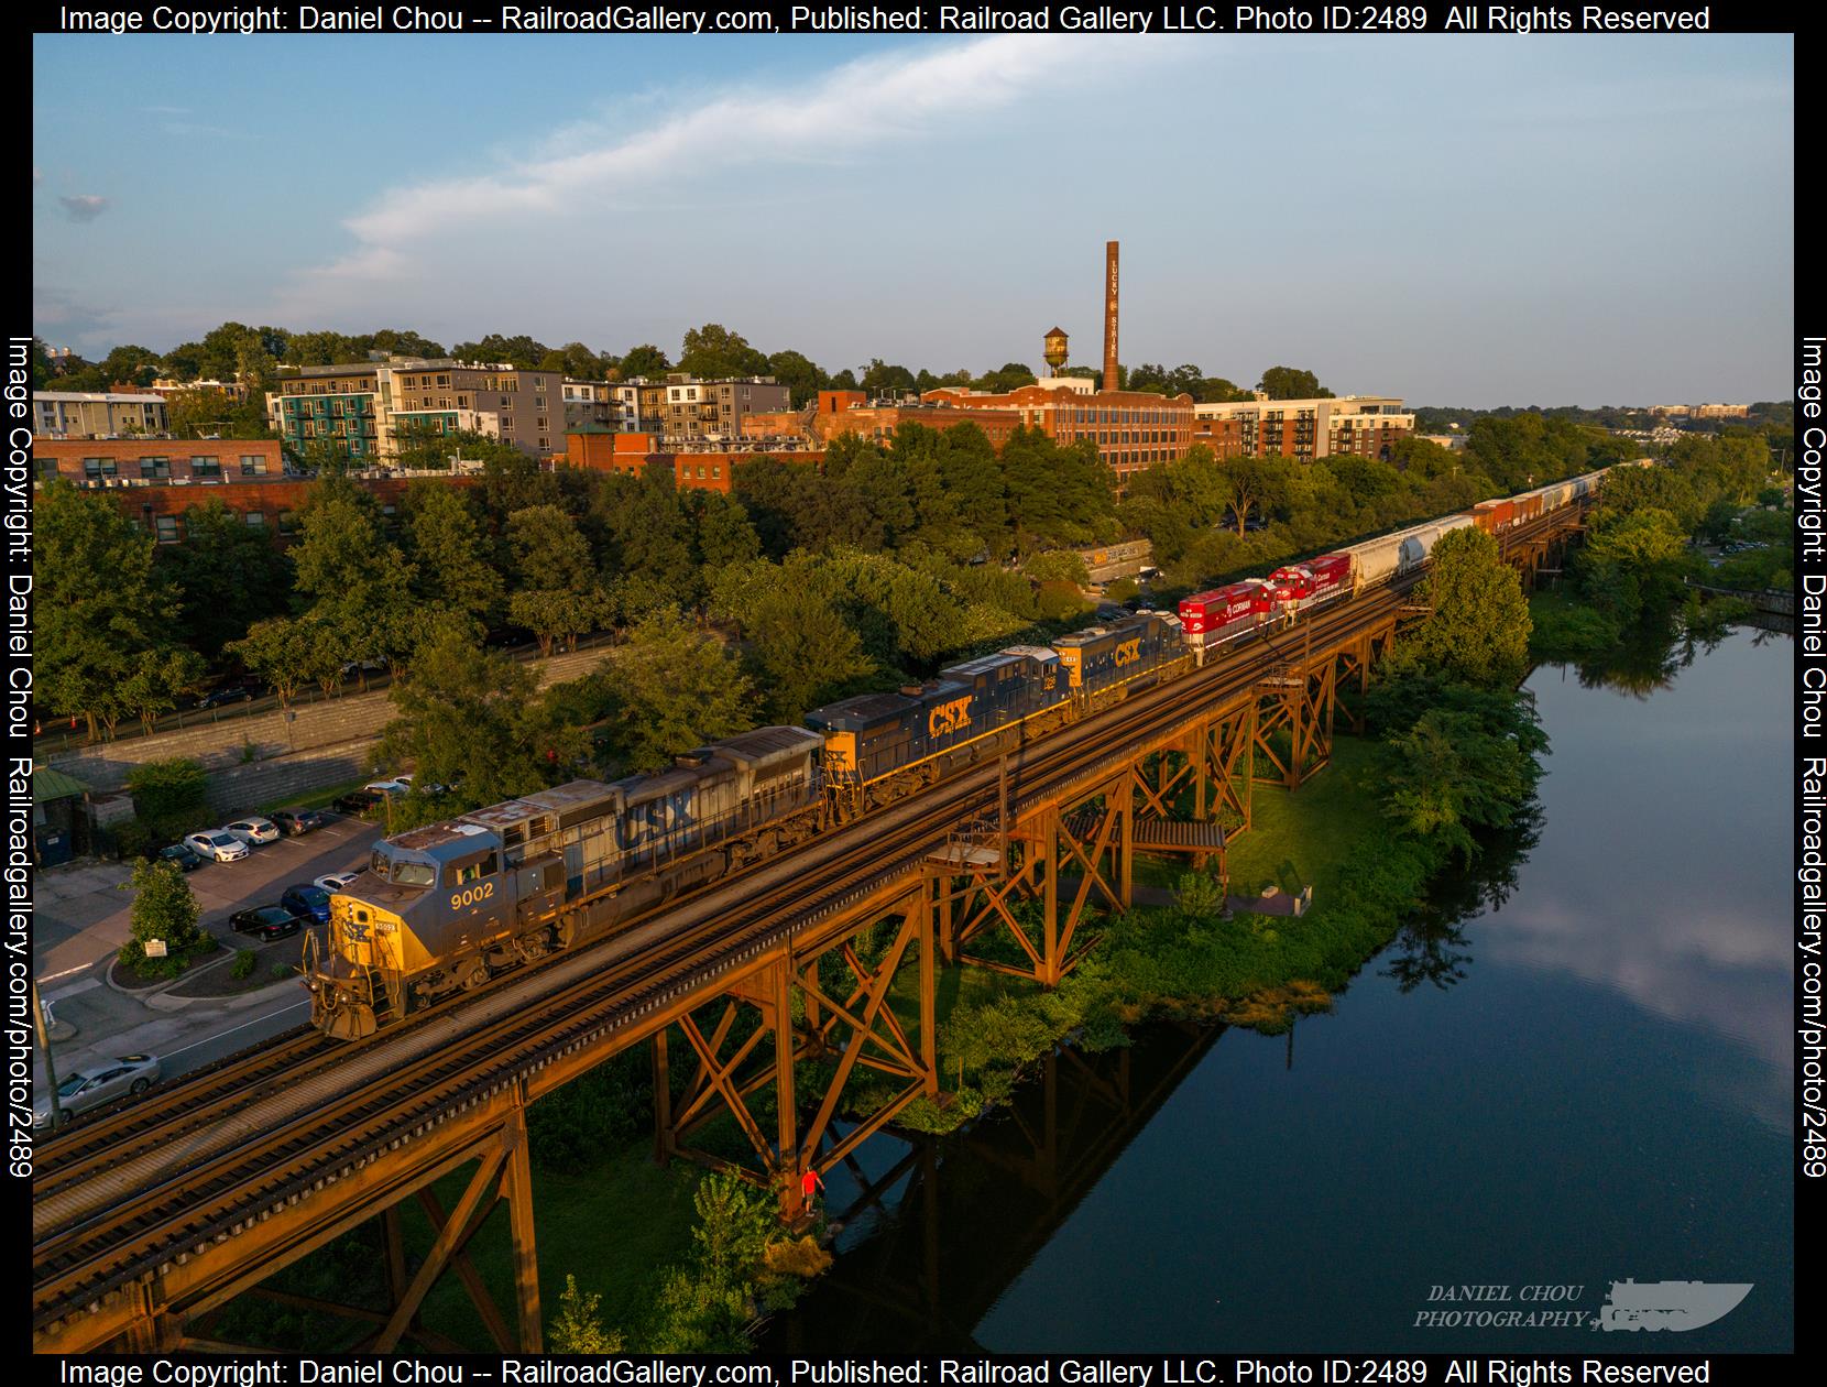
[[[1602,473],[1277,568],[1180,603],[941,669],[815,709],[804,727],[711,742],[654,775],[572,780],[375,844],[307,936],[311,1020],[343,1040],[851,822],[963,766],[1045,736],[1427,561],[1440,535],[1493,534],[1597,490]]]

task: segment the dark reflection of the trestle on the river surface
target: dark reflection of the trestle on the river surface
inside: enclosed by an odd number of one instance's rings
[[[1164,1022],[1125,1049],[1056,1051],[1009,1107],[968,1131],[915,1146],[881,1140],[899,1160],[850,1166],[853,1195],[831,1181],[842,1255],[769,1325],[762,1349],[976,1352],[983,1316],[1222,1032]]]

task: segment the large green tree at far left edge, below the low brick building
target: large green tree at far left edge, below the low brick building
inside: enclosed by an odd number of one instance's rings
[[[33,572],[38,629],[37,696],[55,713],[126,711],[121,685],[144,651],[164,645],[177,601],[153,568],[155,543],[110,501],[48,481],[37,497]]]

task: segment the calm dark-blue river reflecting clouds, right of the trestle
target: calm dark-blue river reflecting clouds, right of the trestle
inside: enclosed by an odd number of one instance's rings
[[[879,1199],[764,1347],[1789,1350],[1792,667],[1736,630],[1637,693],[1538,669],[1553,753],[1500,906],[1292,1036],[1147,1027],[965,1133],[871,1142]],[[1752,1288],[1595,1332],[1626,1279]]]

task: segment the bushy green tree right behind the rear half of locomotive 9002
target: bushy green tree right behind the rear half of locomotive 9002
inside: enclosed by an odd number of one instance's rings
[[[619,711],[610,746],[630,771],[658,771],[755,725],[755,691],[736,658],[676,610],[638,621],[605,662],[603,682]]]

